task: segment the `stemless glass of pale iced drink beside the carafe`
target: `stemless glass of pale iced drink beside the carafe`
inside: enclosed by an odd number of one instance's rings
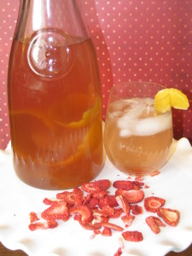
[[[110,91],[104,145],[121,172],[141,177],[166,163],[172,148],[172,111],[154,110],[154,96],[163,89],[160,84],[126,82]]]

